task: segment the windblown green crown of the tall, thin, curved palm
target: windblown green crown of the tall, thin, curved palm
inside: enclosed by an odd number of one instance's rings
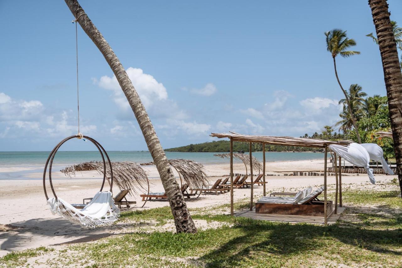
[[[346,31],[332,29],[324,34],[326,36],[327,50],[331,52],[332,58],[335,58],[338,54],[344,58],[360,54],[359,51],[347,50],[349,47],[355,46],[356,41],[349,39]]]

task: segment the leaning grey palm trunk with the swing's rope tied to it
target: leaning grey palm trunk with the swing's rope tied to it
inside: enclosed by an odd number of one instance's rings
[[[158,136],[156,136],[154,126],[148,117],[144,105],[139,99],[137,91],[135,91],[130,78],[124,70],[123,65],[120,63],[119,59],[105,38],[103,38],[103,35],[98,31],[98,29],[96,29],[88,15],[85,14],[78,1],[65,0],[65,2],[70,8],[72,14],[78,18],[78,23],[80,23],[82,29],[84,29],[85,33],[90,37],[90,39],[95,43],[105,57],[110,68],[113,70],[121,89],[127,97],[131,109],[133,109],[135,118],[138,121],[148,149],[152,155],[152,158],[154,159],[156,168],[158,169],[163,188],[168,196],[170,208],[172,209],[172,214],[174,217],[174,223],[176,225],[176,231],[178,233],[196,233],[197,228],[195,227],[190,213],[187,210],[187,205],[184,201],[183,194],[181,193],[178,183],[176,182],[176,178],[174,177],[172,169],[170,168],[165,152],[160,145]]]

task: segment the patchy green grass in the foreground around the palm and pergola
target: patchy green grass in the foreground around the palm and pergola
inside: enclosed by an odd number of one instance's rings
[[[298,267],[402,266],[402,202],[396,191],[343,193],[345,204],[377,208],[347,208],[335,225],[273,223],[228,215],[230,205],[191,209],[193,219],[227,223],[195,234],[138,231],[59,250],[56,266],[88,267]],[[333,199],[332,199],[333,200]],[[248,200],[235,203],[247,208]],[[378,204],[381,207],[378,207]],[[216,214],[218,211],[219,214]],[[224,211],[224,212],[222,212]],[[213,212],[213,213],[211,213]],[[172,220],[170,207],[123,212],[127,223]],[[158,230],[158,229],[157,229]],[[11,253],[0,265],[22,265],[45,248]]]

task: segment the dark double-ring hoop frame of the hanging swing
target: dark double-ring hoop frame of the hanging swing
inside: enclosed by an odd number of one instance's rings
[[[68,141],[68,140],[71,140],[72,138],[85,138],[85,139],[87,139],[87,140],[90,140],[90,142],[92,142],[92,143],[96,146],[96,148],[98,149],[98,151],[99,151],[99,153],[100,153],[100,155],[101,155],[101,157],[102,157],[102,161],[103,161],[103,181],[102,181],[102,186],[100,187],[99,192],[102,192],[103,186],[105,185],[105,180],[106,180],[106,161],[105,161],[105,156],[106,156],[107,162],[108,162],[109,168],[110,168],[110,177],[111,177],[111,181],[110,181],[110,192],[112,192],[112,188],[113,188],[113,170],[112,170],[111,161],[110,161],[110,159],[109,159],[109,156],[108,156],[107,153],[106,153],[106,150],[102,147],[102,145],[100,145],[99,142],[97,142],[97,141],[94,140],[93,138],[88,137],[88,136],[84,136],[84,135],[82,135],[82,134],[79,133],[79,134],[76,134],[76,135],[73,135],[73,136],[70,136],[70,137],[67,137],[67,138],[63,139],[61,142],[59,142],[59,143],[53,148],[53,150],[52,150],[51,153],[49,154],[49,157],[47,157],[45,169],[43,170],[43,191],[45,192],[46,200],[49,199],[49,196],[47,196],[47,191],[46,191],[46,173],[47,173],[47,166],[49,165],[49,183],[50,183],[50,188],[51,188],[51,191],[53,192],[53,196],[54,196],[54,197],[56,198],[56,200],[57,200],[57,195],[56,195],[56,192],[55,192],[55,190],[54,190],[54,188],[53,188],[53,183],[52,183],[52,180],[51,180],[51,167],[52,167],[52,164],[53,164],[53,159],[54,159],[54,157],[55,157],[55,155],[56,155],[56,153],[57,153],[57,150],[59,150],[60,146],[62,146],[62,145],[64,144],[64,142],[66,142],[66,141]],[[104,154],[105,154],[105,156],[104,156]]]

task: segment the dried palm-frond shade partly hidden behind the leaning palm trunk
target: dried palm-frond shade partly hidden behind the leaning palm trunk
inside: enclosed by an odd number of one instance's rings
[[[190,188],[202,188],[208,185],[208,176],[204,165],[189,159],[169,159],[169,164],[176,169],[180,179],[189,184]],[[142,163],[141,165],[155,165],[154,162]]]

